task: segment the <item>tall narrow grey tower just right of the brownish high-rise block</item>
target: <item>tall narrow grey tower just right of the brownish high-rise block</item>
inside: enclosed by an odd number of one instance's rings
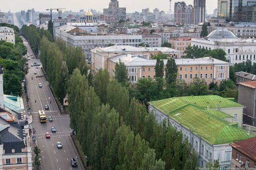
[[[197,25],[205,20],[205,1],[194,0],[194,24]]]

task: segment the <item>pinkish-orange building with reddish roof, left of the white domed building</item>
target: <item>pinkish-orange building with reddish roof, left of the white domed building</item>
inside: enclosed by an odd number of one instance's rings
[[[171,47],[175,50],[181,51],[182,55],[186,55],[185,51],[188,46],[191,45],[191,39],[197,37],[184,36],[180,38],[171,38],[168,40],[171,43]]]

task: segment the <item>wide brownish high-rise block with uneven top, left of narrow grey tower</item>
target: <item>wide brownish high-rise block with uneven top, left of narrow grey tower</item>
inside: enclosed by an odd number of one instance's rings
[[[191,25],[194,23],[194,8],[192,5],[186,5],[185,2],[175,2],[174,4],[174,22],[176,24]]]

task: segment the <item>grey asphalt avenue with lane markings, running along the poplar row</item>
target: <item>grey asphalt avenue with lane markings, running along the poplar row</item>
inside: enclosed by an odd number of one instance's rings
[[[25,41],[29,56],[33,54],[31,47]],[[33,54],[33,56],[35,56]],[[57,104],[54,101],[54,97],[48,86],[48,82],[45,77],[36,78],[36,75],[43,75],[41,68],[36,69],[35,66],[31,67],[31,64],[41,64],[39,60],[32,59],[29,63],[29,73],[26,75],[27,90],[30,99],[30,107],[33,123],[31,123],[31,129],[35,128],[34,135],[37,137],[36,144],[41,150],[41,162],[43,170],[84,170],[83,164],[79,157],[79,154],[72,142],[70,133],[72,130],[69,127],[70,118],[69,115],[60,114]],[[34,74],[36,72],[36,74]],[[33,77],[33,80],[31,79]],[[42,83],[43,87],[39,87],[39,83]],[[48,105],[49,109],[45,110],[44,106]],[[43,109],[47,116],[47,122],[41,123],[38,117],[38,110]],[[48,117],[52,116],[53,121],[50,122]],[[51,127],[56,127],[57,132],[51,133]],[[45,138],[45,132],[50,132],[51,138]],[[58,149],[56,142],[62,142],[63,148]],[[76,158],[78,162],[77,167],[72,167],[70,159]]]

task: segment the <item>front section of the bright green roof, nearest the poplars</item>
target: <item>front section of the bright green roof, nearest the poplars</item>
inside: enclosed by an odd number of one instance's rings
[[[245,130],[237,127],[237,124],[223,119],[229,115],[221,111],[200,108],[181,97],[151,101],[149,104],[213,145],[228,144],[254,136],[248,136]]]

